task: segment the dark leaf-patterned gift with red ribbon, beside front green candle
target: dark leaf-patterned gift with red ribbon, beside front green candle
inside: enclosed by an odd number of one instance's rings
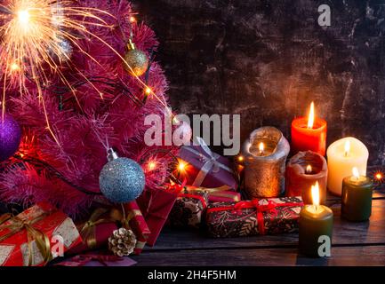
[[[216,238],[291,233],[298,229],[301,197],[216,202],[206,214],[208,232]]]

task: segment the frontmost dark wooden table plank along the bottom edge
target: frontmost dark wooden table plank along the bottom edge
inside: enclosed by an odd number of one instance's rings
[[[297,248],[231,248],[143,252],[138,265],[385,265],[385,246],[333,247],[332,256],[299,256]]]

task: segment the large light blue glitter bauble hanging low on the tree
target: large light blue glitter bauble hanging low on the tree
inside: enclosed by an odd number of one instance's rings
[[[108,163],[100,171],[100,191],[114,203],[134,201],[143,192],[146,179],[140,164],[128,159],[119,158],[108,150]]]

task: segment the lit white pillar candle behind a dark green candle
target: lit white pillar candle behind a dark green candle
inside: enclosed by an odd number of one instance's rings
[[[357,138],[342,138],[327,148],[327,188],[331,193],[341,195],[342,179],[351,176],[356,167],[361,176],[366,175],[369,151]]]

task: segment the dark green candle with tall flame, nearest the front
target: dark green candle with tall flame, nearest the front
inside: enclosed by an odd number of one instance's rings
[[[321,236],[332,243],[333,211],[319,205],[319,187],[316,182],[311,186],[312,205],[305,205],[300,213],[300,252],[306,256],[320,256],[318,249],[322,244]]]

